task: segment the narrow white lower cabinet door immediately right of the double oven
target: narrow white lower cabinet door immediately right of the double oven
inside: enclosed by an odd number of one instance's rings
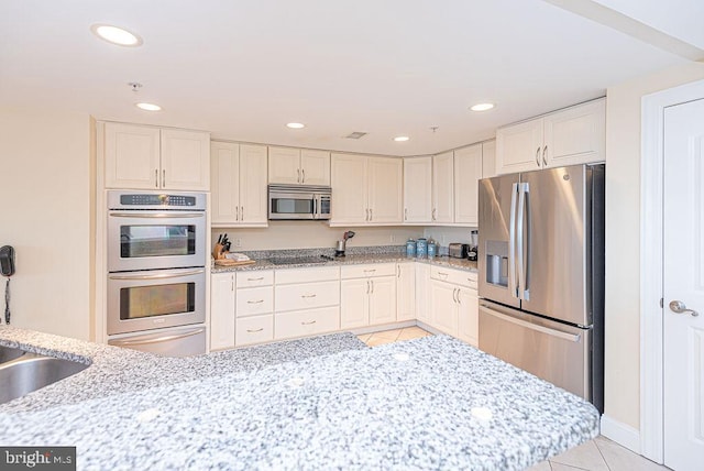
[[[234,274],[210,278],[210,350],[234,347]]]

